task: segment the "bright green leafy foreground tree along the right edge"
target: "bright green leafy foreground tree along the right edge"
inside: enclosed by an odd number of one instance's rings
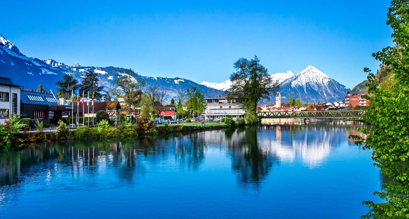
[[[373,57],[388,66],[395,83],[384,89],[368,73],[369,108],[362,119],[370,129],[359,128],[367,135],[351,135],[363,149],[371,149],[374,165],[389,178],[381,190],[374,192],[383,201],[364,201],[369,212],[362,218],[409,218],[409,0],[393,0],[387,13],[387,24],[392,28],[394,47],[386,47]]]

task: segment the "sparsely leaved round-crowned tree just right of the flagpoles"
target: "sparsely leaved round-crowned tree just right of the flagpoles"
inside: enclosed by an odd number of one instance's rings
[[[118,72],[117,78],[114,79],[115,88],[111,90],[111,94],[116,98],[124,99],[127,104],[128,112],[135,112],[135,102],[140,98],[139,91],[145,86],[145,81],[139,79],[138,73],[132,69]]]

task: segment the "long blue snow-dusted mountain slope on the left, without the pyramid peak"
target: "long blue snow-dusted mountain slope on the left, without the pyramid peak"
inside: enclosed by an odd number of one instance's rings
[[[100,85],[105,90],[113,88],[112,81],[117,77],[119,71],[125,71],[118,67],[94,67],[81,66],[78,63],[74,65],[65,65],[53,59],[40,60],[27,57],[18,50],[18,48],[9,40],[0,35],[0,76],[9,77],[14,84],[24,86],[29,89],[36,89],[40,83],[46,90],[56,91],[55,82],[61,80],[64,74],[73,75],[78,81],[82,81],[85,72],[97,72],[100,79]],[[168,102],[175,97],[179,89],[186,90],[192,86],[205,94],[206,97],[217,97],[223,95],[221,89],[214,89],[194,81],[183,78],[167,77],[148,77],[139,75],[140,79],[146,81],[146,85],[155,84],[160,88],[168,90]]]

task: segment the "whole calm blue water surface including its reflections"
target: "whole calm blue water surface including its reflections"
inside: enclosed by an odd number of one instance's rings
[[[0,218],[359,218],[382,178],[356,127],[27,145],[0,154]]]

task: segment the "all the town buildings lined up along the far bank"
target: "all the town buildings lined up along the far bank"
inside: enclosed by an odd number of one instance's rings
[[[142,95],[142,91],[139,91]],[[324,104],[308,103],[303,106],[290,106],[281,102],[281,94],[276,93],[275,104],[258,105],[258,112],[265,111],[321,111],[321,110],[343,110],[356,106],[368,106],[368,100],[363,95],[365,91],[348,91],[344,101],[328,102]],[[127,103],[120,98],[116,101],[94,101],[91,106],[91,100],[84,98],[84,107],[82,103],[67,104],[65,99],[56,99],[52,92],[31,90],[22,88],[13,84],[11,79],[0,77],[0,123],[4,124],[6,117],[15,113],[21,118],[31,118],[41,120],[45,123],[56,123],[62,117],[79,116],[95,117],[100,110],[108,112],[110,117],[115,117],[118,110],[124,111]],[[231,115],[233,118],[245,117],[245,110],[242,108],[243,100],[229,97],[211,97],[205,98],[207,108],[202,113],[204,120],[218,120]],[[133,103],[139,106],[139,103]],[[91,108],[90,108],[91,107]],[[176,110],[172,105],[162,106],[155,102],[155,107],[160,109],[157,115],[177,118]],[[184,104],[184,110],[187,110],[187,102]],[[135,108],[135,116],[139,115],[141,109]]]

